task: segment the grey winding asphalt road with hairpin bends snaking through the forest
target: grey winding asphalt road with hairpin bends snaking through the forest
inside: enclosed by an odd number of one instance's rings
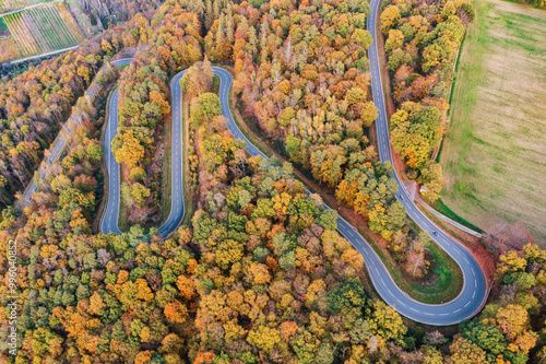
[[[377,10],[378,0],[372,1],[372,9]],[[369,21],[369,30],[375,37],[376,15],[372,14]],[[387,125],[387,116],[384,110],[383,92],[381,79],[379,74],[379,60],[377,58],[376,46],[370,47],[370,63],[372,72],[373,102],[378,106],[379,119],[377,120],[379,136],[379,152],[381,161],[391,161],[392,155],[390,150],[389,130]],[[258,148],[256,148],[237,127],[232,111],[229,109],[229,90],[232,87],[232,75],[228,71],[213,67],[214,74],[219,77],[219,101],[222,105],[222,115],[227,119],[227,128],[234,138],[241,139],[247,143],[247,151],[253,155],[261,155],[268,158]],[[179,80],[185,71],[175,77],[170,86],[173,91],[173,202],[171,212],[166,223],[159,228],[161,234],[165,237],[170,232],[175,231],[183,218],[183,190],[182,190],[182,140],[181,140],[181,92]],[[117,225],[119,215],[119,165],[116,163],[111,154],[111,140],[117,132],[117,94],[114,95],[110,103],[109,120],[107,134],[105,137],[106,163],[109,175],[109,199],[108,206],[104,212],[102,221],[103,233],[118,233],[120,231]],[[116,167],[116,165],[118,165]],[[413,203],[404,186],[400,183],[397,175],[394,176],[399,184],[399,192],[396,198],[405,207],[408,215],[423,228],[429,232],[435,242],[446,249],[459,263],[464,274],[463,290],[458,297],[451,302],[440,305],[429,305],[417,302],[411,298],[405,292],[400,290],[392,280],[389,271],[384,267],[381,259],[373,251],[371,246],[358,234],[357,230],[349,225],[343,218],[337,218],[339,232],[349,240],[353,246],[361,254],[368,269],[369,277],[376,291],[379,295],[401,315],[411,318],[415,321],[435,325],[447,326],[454,325],[465,318],[474,316],[483,306],[487,297],[487,287],[485,277],[470,251],[459,243],[451,239],[447,234],[440,231],[432,224]],[[309,191],[307,191],[309,195]],[[329,207],[324,206],[330,209]]]

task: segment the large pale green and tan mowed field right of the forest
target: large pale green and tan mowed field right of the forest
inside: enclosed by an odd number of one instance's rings
[[[444,141],[444,203],[495,232],[521,222],[546,246],[546,11],[475,0]]]

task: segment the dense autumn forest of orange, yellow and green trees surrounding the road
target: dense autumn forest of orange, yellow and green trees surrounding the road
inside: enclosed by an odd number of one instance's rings
[[[475,317],[432,327],[381,300],[337,231],[339,214],[358,224],[408,290],[444,300],[449,285],[464,284],[395,198],[394,168],[424,186],[427,201],[438,199],[436,154],[475,16],[470,0],[383,1],[378,39],[367,30],[370,4],[359,0],[107,4],[104,16],[122,16],[100,34],[0,81],[0,362],[546,363],[546,250],[525,232],[460,238],[483,255],[490,294]],[[376,42],[396,166],[378,154],[368,55]],[[112,66],[124,58],[127,67]],[[229,131],[213,66],[233,75],[229,107],[269,160]],[[171,199],[169,84],[185,69],[186,214],[162,236]],[[121,235],[99,233],[115,87]],[[67,146],[46,167],[63,132]],[[38,190],[22,204],[32,180]],[[10,240],[16,355],[8,345]]]

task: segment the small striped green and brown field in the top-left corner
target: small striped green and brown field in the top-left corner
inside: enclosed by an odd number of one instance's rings
[[[9,13],[1,17],[1,23],[9,36],[1,40],[5,51],[2,51],[0,61],[75,46],[85,39],[62,2]]]

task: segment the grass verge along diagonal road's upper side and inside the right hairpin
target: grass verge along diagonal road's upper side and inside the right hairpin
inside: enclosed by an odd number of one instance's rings
[[[276,153],[270,145],[268,145],[250,129],[245,118],[240,115],[239,110],[234,107],[234,98],[235,95],[233,94],[233,92],[230,92],[229,107],[232,108],[235,122],[245,134],[245,137],[247,137],[248,140],[250,140],[252,143],[254,143],[254,145],[265,155],[270,157],[275,156],[278,161],[283,162],[285,158]],[[304,171],[300,171],[296,165],[294,166],[294,174],[295,178],[299,180],[310,180],[307,174]],[[320,188],[313,188],[316,187],[314,184],[307,183],[305,185],[311,192],[318,191],[318,193],[321,196],[324,196],[327,193]],[[336,209],[337,204],[331,207],[333,209]],[[429,250],[436,260],[435,267],[439,267],[439,269],[434,272],[438,277],[436,280],[437,284],[426,286],[424,284],[419,284],[418,282],[410,282],[401,271],[401,269],[396,266],[396,263],[392,259],[390,259],[387,254],[375,243],[375,238],[371,236],[371,232],[364,228],[358,228],[358,232],[371,245],[373,250],[383,261],[396,285],[404,292],[406,292],[411,297],[428,304],[439,304],[456,297],[461,292],[461,289],[463,286],[461,268],[446,251],[436,246],[436,244],[434,244],[435,247],[429,247]],[[451,274],[449,274],[449,272],[451,272]],[[368,285],[372,286],[371,282],[368,282]]]

